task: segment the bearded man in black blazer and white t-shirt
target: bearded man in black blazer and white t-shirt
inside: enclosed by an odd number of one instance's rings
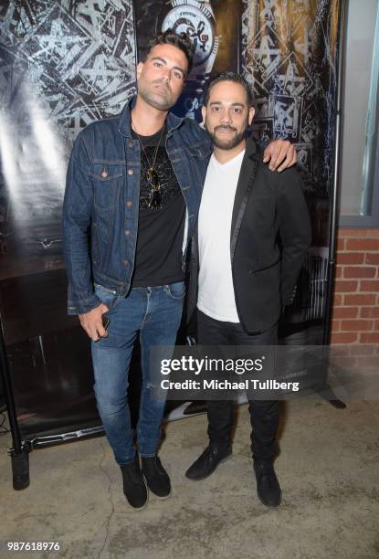
[[[300,174],[272,173],[246,139],[254,118],[247,81],[226,72],[213,79],[203,118],[214,143],[193,242],[188,315],[197,309],[202,345],[276,345],[282,308],[291,301],[311,243]],[[249,400],[251,448],[260,501],[277,506],[273,468],[279,406]],[[209,446],[185,475],[203,480],[231,455],[233,402],[207,402]]]

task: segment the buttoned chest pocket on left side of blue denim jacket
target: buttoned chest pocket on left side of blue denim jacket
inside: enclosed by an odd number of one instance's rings
[[[95,163],[89,176],[93,182],[95,206],[101,209],[115,206],[122,184],[121,165]]]

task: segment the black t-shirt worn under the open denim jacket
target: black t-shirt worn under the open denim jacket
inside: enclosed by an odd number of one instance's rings
[[[138,139],[137,134],[132,133]],[[160,130],[153,136],[140,135],[146,154],[141,147],[140,211],[132,288],[153,287],[184,280],[182,246],[185,202],[164,147],[165,139],[165,128],[163,132]],[[162,200],[159,208],[148,206],[151,186],[146,181],[146,171],[152,164],[161,186]]]

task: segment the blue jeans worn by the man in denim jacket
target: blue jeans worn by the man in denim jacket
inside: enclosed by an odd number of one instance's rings
[[[141,343],[142,393],[137,441],[143,457],[154,456],[161,438],[164,398],[153,395],[150,348],[174,350],[184,301],[184,281],[148,288],[134,288],[127,297],[96,286],[96,295],[110,311],[108,337],[92,342],[95,395],[102,424],[119,465],[132,461],[131,414],[128,405],[128,373],[138,333]],[[167,356],[168,358],[171,355]]]

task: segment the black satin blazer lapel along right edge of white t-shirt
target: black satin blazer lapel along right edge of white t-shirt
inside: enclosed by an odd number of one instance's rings
[[[245,214],[248,196],[253,188],[258,171],[257,148],[255,142],[247,140],[247,147],[237,182],[236,196],[233,206],[232,227],[230,231],[230,256],[233,262],[239,229]]]

